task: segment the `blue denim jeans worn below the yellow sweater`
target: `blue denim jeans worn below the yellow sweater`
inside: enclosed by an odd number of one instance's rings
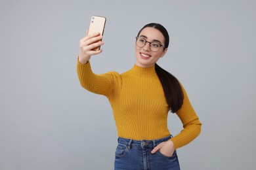
[[[178,170],[180,169],[177,152],[167,157],[158,150],[151,154],[154,147],[168,141],[171,135],[152,141],[135,141],[119,137],[116,148],[115,170]]]

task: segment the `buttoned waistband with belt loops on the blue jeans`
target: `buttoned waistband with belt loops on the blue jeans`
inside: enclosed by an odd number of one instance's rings
[[[161,138],[161,139],[155,139],[155,140],[149,140],[149,141],[148,140],[136,141],[133,139],[125,139],[125,138],[119,137],[118,143],[125,144],[125,146],[127,146],[128,148],[130,148],[131,146],[142,147],[142,148],[154,148],[158,144],[160,144],[164,141],[168,141],[168,139],[171,139],[172,137],[173,137],[172,135],[169,135],[169,136]]]

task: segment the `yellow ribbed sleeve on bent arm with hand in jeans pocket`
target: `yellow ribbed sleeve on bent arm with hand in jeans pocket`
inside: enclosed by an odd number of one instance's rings
[[[181,133],[170,139],[171,141],[173,141],[175,150],[190,143],[196,137],[198,137],[201,132],[202,126],[182,85],[181,88],[184,94],[184,101],[181,109],[177,111],[177,115],[181,119],[184,129],[182,129]]]

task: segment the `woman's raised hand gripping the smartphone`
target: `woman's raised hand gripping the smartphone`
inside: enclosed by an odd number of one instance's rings
[[[100,33],[93,33],[88,35],[87,29],[87,36],[80,40],[79,45],[79,62],[80,63],[87,63],[92,55],[100,54],[102,50],[94,51],[93,48],[97,46],[101,46],[104,42],[100,41],[102,39],[102,35]]]

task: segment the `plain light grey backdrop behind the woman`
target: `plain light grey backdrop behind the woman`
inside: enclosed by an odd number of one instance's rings
[[[113,169],[117,133],[106,97],[81,88],[79,39],[106,16],[95,73],[135,63],[148,22],[171,36],[158,62],[182,82],[202,133],[179,148],[181,169],[255,169],[256,3],[7,1],[0,4],[0,169]],[[182,129],[169,114],[173,135]]]

